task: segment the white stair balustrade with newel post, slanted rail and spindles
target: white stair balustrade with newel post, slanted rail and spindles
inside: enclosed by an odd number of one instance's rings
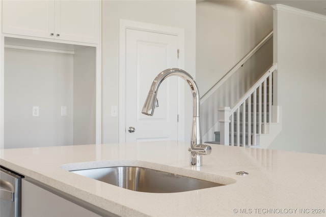
[[[215,141],[208,143],[258,146],[260,136],[268,133],[273,105],[273,64],[264,75],[231,108],[219,109],[220,131],[214,132]]]

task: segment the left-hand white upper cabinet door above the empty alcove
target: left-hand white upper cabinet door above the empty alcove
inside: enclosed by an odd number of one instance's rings
[[[53,38],[53,1],[3,0],[3,33]]]

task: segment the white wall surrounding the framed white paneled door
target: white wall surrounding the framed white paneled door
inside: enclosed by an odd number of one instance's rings
[[[133,20],[184,28],[184,70],[195,75],[195,1],[103,1],[102,2],[102,143],[119,140],[118,117],[111,117],[111,106],[119,105],[119,20]],[[157,72],[158,74],[159,72]],[[185,85],[186,86],[186,85]],[[188,86],[186,86],[188,88]],[[192,105],[189,91],[186,103]],[[189,95],[189,96],[188,96]],[[118,109],[119,111],[119,109]],[[185,114],[185,139],[191,132],[191,109]]]

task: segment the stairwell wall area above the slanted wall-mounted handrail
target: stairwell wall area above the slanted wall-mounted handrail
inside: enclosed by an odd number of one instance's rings
[[[196,81],[201,95],[273,30],[273,9],[252,1],[196,4]]]

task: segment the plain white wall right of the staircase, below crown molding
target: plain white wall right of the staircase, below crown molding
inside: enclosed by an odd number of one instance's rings
[[[270,149],[326,153],[326,17],[285,6],[274,12],[274,102],[282,131]]]

